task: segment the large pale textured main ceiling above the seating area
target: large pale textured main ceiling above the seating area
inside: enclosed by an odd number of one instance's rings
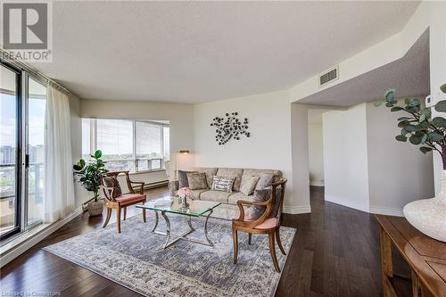
[[[291,87],[399,32],[419,2],[54,2],[54,59],[86,99],[201,103]]]

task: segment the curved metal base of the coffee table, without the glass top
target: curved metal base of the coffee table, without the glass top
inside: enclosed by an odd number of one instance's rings
[[[208,236],[208,220],[211,217],[212,211],[213,210],[209,210],[208,215],[206,216],[206,219],[204,221],[204,238],[205,240],[200,240],[198,238],[193,238],[193,237],[187,237],[187,235],[190,235],[191,233],[193,233],[194,231],[196,231],[194,229],[194,227],[192,227],[192,218],[189,217],[187,219],[187,225],[189,227],[189,230],[183,232],[182,234],[175,234],[172,233],[171,231],[171,227],[170,227],[170,220],[167,216],[166,211],[160,210],[161,211],[161,216],[162,218],[164,218],[164,220],[166,221],[166,232],[162,232],[160,230],[157,230],[158,227],[158,222],[159,222],[159,215],[158,215],[158,211],[159,210],[153,210],[155,212],[155,226],[153,227],[152,232],[159,234],[159,235],[166,235],[166,243],[164,243],[164,245],[162,246],[163,249],[166,249],[167,247],[169,247],[170,245],[172,245],[173,243],[178,242],[178,240],[186,240],[192,243],[200,243],[200,244],[204,244],[204,245],[209,245],[209,246],[214,246],[214,243],[211,242],[211,239],[209,239]],[[171,237],[175,236],[173,239],[171,239]]]

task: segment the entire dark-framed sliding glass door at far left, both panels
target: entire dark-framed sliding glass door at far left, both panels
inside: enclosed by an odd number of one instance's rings
[[[45,81],[0,61],[0,238],[43,219]]]

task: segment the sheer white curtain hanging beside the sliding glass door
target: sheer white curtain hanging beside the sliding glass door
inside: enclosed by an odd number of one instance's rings
[[[74,184],[69,99],[53,83],[47,90],[44,223],[51,223],[74,210]]]

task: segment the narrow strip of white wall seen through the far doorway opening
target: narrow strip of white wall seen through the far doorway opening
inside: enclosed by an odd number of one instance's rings
[[[308,124],[310,186],[324,186],[322,122]]]

